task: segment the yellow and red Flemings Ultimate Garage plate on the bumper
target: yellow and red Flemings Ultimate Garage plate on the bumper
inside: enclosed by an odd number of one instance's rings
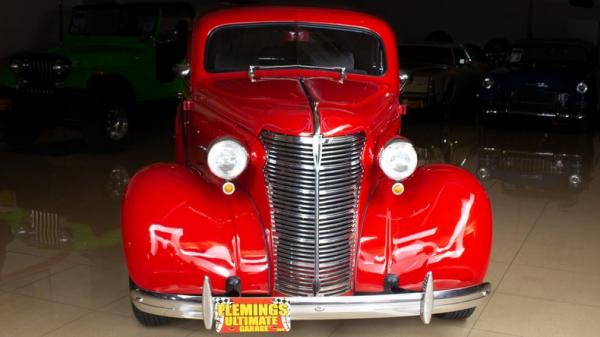
[[[215,297],[219,333],[290,331],[290,303],[284,297]]]

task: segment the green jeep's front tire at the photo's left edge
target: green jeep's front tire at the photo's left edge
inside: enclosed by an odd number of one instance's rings
[[[44,129],[43,122],[27,106],[18,105],[8,112],[4,121],[4,142],[12,149],[31,147]]]

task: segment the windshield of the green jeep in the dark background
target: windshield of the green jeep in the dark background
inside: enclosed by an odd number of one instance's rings
[[[73,12],[73,35],[147,36],[156,28],[156,8],[78,8]]]

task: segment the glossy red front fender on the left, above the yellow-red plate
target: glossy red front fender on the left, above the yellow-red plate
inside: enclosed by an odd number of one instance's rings
[[[199,294],[208,275],[216,293],[229,276],[245,294],[269,293],[266,232],[242,190],[227,196],[184,166],[153,165],[129,183],[121,221],[127,268],[143,289]]]

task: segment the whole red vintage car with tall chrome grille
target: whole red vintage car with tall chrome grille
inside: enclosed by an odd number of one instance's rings
[[[396,53],[385,22],[353,11],[197,20],[176,161],[137,173],[123,201],[142,324],[472,314],[490,293],[490,204],[460,168],[417,168]]]

